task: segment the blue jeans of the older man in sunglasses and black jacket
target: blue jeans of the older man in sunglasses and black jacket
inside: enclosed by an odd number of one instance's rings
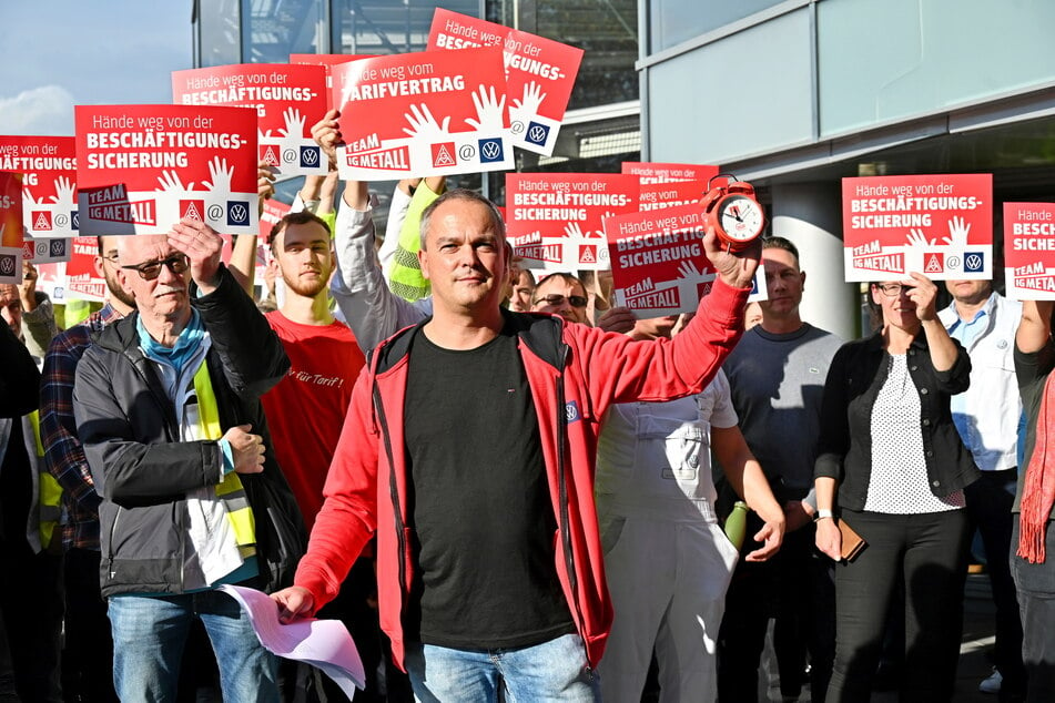
[[[278,703],[277,662],[239,603],[220,591],[110,599],[113,685],[122,701],[175,701],[180,660],[191,622],[209,633],[224,701]]]

